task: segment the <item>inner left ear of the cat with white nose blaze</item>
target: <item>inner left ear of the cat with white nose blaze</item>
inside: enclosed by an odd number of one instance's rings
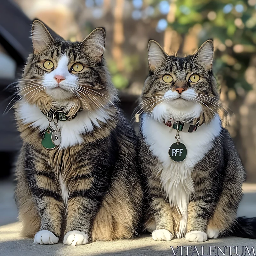
[[[34,53],[44,50],[46,47],[51,47],[53,38],[44,24],[39,20],[34,20],[31,30],[32,43]]]

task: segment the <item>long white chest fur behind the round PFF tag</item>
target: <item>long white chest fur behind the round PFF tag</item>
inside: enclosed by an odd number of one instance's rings
[[[176,230],[178,238],[186,233],[188,202],[194,192],[191,172],[212,148],[212,141],[220,134],[220,117],[215,116],[208,125],[201,125],[196,132],[180,132],[180,142],[187,147],[188,154],[183,162],[176,163],[169,157],[168,150],[176,142],[176,130],[144,115],[142,132],[153,155],[162,162],[161,182],[172,207],[180,212],[180,226]]]

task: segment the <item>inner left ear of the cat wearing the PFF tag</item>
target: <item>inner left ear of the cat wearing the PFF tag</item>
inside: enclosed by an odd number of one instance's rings
[[[148,42],[148,66],[155,70],[166,61],[166,53],[163,48],[154,40]]]

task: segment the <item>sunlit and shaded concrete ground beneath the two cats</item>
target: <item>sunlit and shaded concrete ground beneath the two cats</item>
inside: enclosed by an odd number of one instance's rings
[[[180,246],[188,247],[189,255],[207,255],[212,249],[212,254],[217,255],[217,246],[224,251],[225,255],[244,255],[246,247],[251,251],[252,246],[256,253],[256,240],[239,237],[227,237],[215,240],[207,240],[204,243],[191,243],[186,239],[174,239],[172,241],[154,241],[150,235],[144,235],[140,238],[130,240],[117,240],[113,242],[94,242],[81,246],[67,246],[62,243],[54,245],[35,245],[33,239],[24,239],[20,236],[20,224],[17,222],[17,210],[13,200],[14,184],[11,181],[0,182],[0,255],[1,256],[84,256],[84,255],[174,255],[172,248],[177,255],[187,255],[187,247],[183,247],[180,253]],[[254,217],[256,216],[256,184],[244,184],[244,197],[238,210],[238,216]],[[173,246],[171,248],[171,246]],[[178,247],[179,246],[179,247]],[[194,248],[196,246],[196,249]],[[202,253],[202,247],[204,251]],[[216,248],[209,246],[216,246]],[[243,247],[244,246],[244,251]],[[231,248],[231,254],[229,250]],[[213,250],[215,250],[213,252]],[[219,255],[223,255],[219,251]],[[246,252],[248,255],[248,252]],[[253,255],[253,253],[251,253]],[[255,254],[254,254],[255,255]]]

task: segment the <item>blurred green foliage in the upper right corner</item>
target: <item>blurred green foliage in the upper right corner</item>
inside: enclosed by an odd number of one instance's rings
[[[228,87],[249,90],[245,70],[256,50],[256,1],[179,0],[175,4],[175,21],[169,26],[185,35],[200,24],[200,44],[209,38],[219,39],[214,71]]]

